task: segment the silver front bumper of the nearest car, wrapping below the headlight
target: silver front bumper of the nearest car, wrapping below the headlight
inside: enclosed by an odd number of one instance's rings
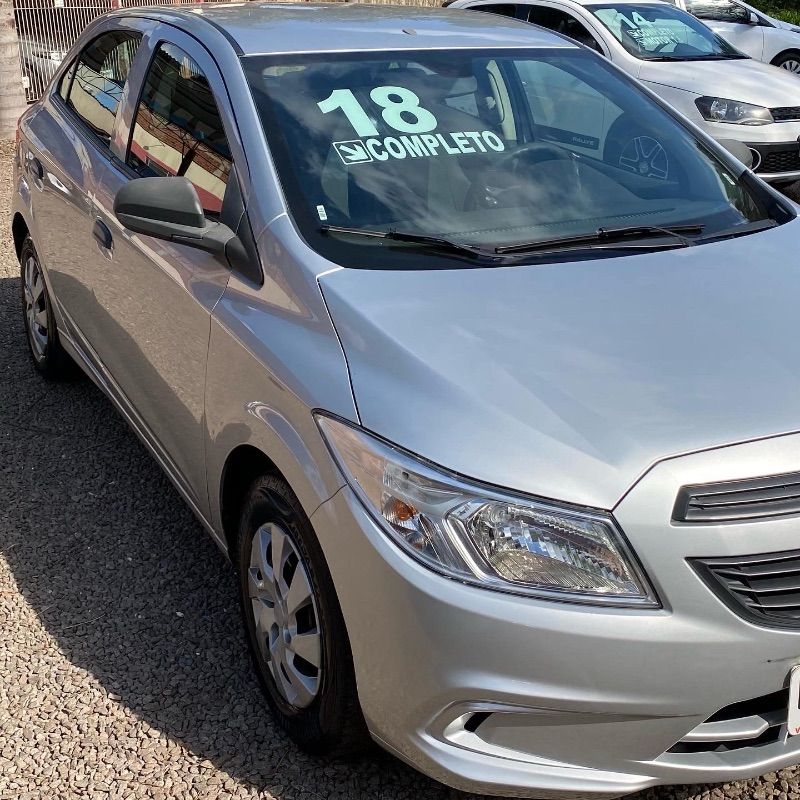
[[[720,709],[774,696],[800,663],[800,629],[745,622],[686,559],[796,548],[800,523],[670,522],[682,485],[797,470],[800,436],[650,470],[615,509],[664,604],[649,611],[550,603],[442,578],[395,548],[342,489],[312,522],[373,736],[444,783],[507,796],[618,797],[800,762],[800,737],[787,738],[782,723],[768,740],[740,739],[729,750],[673,747],[708,738],[698,726]],[[739,737],[748,725],[755,731],[753,715],[744,716],[733,724]]]

